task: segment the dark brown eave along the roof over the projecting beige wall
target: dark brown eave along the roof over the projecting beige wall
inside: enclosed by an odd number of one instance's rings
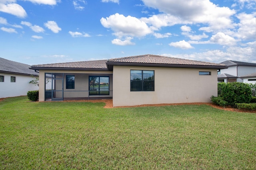
[[[208,66],[208,65],[190,65],[190,64],[154,64],[154,63],[120,63],[120,62],[107,62],[109,70],[113,70],[113,66],[154,66],[154,67],[178,67],[178,68],[213,68],[224,69],[227,66]]]

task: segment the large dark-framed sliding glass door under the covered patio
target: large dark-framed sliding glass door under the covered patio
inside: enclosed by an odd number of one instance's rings
[[[109,95],[109,76],[89,76],[89,95]]]

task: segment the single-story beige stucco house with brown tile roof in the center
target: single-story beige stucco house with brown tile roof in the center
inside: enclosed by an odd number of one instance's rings
[[[39,70],[39,101],[112,98],[113,106],[210,102],[225,64],[159,55],[32,65]],[[43,84],[51,75],[52,89]],[[103,84],[102,84],[103,83]]]

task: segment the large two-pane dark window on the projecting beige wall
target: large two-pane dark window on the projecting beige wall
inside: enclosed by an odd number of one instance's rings
[[[131,70],[131,92],[154,91],[153,70]]]

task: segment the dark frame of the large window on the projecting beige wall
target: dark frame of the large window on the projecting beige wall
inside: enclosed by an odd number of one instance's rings
[[[131,80],[131,76],[132,76],[132,71],[141,71],[141,80]],[[146,71],[152,71],[153,72],[153,80],[144,80],[144,72],[146,72]],[[132,88],[132,83],[133,82],[139,82],[139,83],[141,83],[140,84],[140,90],[138,90],[138,89],[133,89]],[[152,84],[151,84],[151,86],[152,86],[152,89],[151,90],[148,90],[148,89],[145,89],[144,88],[144,83],[145,82],[153,82]],[[130,92],[154,92],[155,91],[155,70],[130,70]]]

